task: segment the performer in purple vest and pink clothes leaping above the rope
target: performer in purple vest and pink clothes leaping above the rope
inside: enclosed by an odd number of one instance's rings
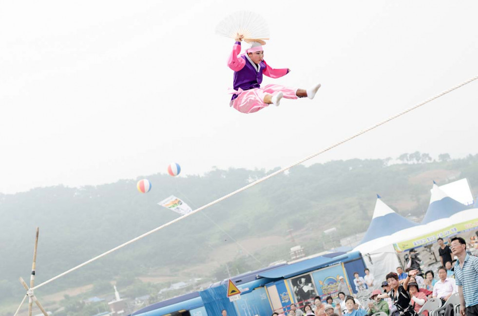
[[[237,34],[235,44],[228,59],[228,66],[234,70],[233,91],[230,106],[242,113],[254,113],[269,104],[279,106],[281,99],[307,97],[313,99],[320,84],[309,89],[288,88],[281,85],[266,85],[261,88],[262,75],[280,78],[290,69],[273,69],[264,60],[264,49],[260,42],[250,42],[245,54],[241,53],[244,35]]]

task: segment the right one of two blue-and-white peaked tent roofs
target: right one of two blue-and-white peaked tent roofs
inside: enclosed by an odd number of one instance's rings
[[[442,218],[448,218],[459,211],[468,209],[466,205],[461,204],[444,193],[435,181],[433,182],[433,188],[430,191],[432,193],[430,197],[430,205],[428,206],[428,210],[426,210],[425,217],[423,217],[423,220],[421,221],[422,224],[428,224]]]

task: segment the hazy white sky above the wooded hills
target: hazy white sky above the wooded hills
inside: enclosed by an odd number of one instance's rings
[[[322,88],[245,115],[229,108],[238,9],[261,13],[265,78]],[[120,178],[285,166],[478,74],[478,2],[2,1],[0,193]],[[309,163],[477,153],[478,82]]]

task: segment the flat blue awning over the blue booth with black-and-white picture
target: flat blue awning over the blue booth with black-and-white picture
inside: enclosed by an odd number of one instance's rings
[[[331,265],[333,263],[342,262],[345,260],[353,260],[360,258],[360,252],[350,252],[344,255],[339,255],[333,258],[327,258],[324,256],[315,257],[296,263],[290,263],[269,271],[264,271],[259,273],[259,276],[269,279],[286,279],[295,275],[306,273],[312,270],[316,270],[320,267]]]

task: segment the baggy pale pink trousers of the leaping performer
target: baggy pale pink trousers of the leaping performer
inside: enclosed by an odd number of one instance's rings
[[[232,102],[232,107],[242,113],[254,113],[261,108],[268,106],[264,103],[264,97],[267,94],[272,96],[279,92],[284,93],[286,99],[297,99],[295,92],[297,89],[287,88],[280,85],[267,85],[264,88],[254,88],[241,92],[237,98]]]

